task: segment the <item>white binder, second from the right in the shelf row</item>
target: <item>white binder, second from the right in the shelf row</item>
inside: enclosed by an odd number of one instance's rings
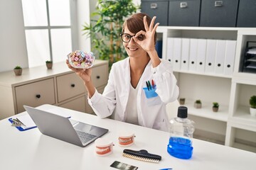
[[[215,74],[223,74],[226,40],[217,40],[215,55]]]

